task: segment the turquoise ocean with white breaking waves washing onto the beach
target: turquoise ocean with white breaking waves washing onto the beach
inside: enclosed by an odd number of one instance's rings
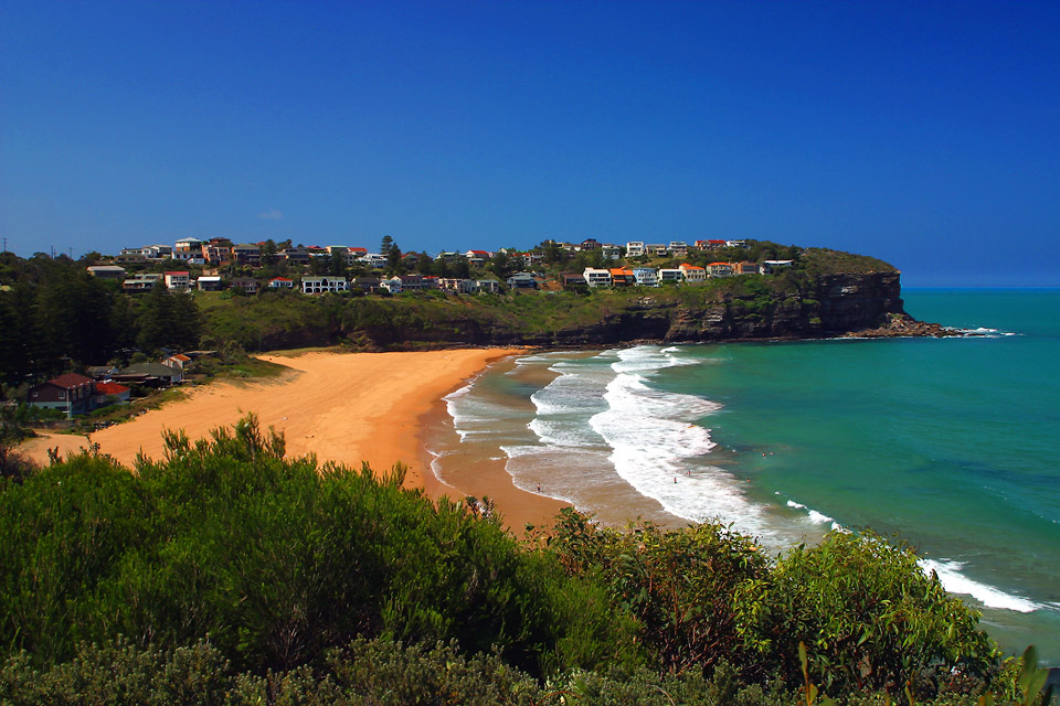
[[[447,397],[435,472],[470,452],[603,523],[719,520],[774,552],[871,527],[1060,664],[1060,290],[903,295],[975,335],[526,355]]]

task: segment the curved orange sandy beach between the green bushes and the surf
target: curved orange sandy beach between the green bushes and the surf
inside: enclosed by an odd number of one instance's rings
[[[562,506],[558,501],[517,489],[501,469],[483,469],[474,488],[451,488],[431,472],[423,445],[424,425],[444,415],[444,397],[491,362],[519,350],[452,350],[411,353],[341,353],[314,351],[299,355],[262,355],[289,368],[279,378],[247,383],[214,383],[187,399],[148,411],[132,421],[96,431],[100,451],[131,466],[136,456],[158,459],[161,432],[183,429],[192,439],[231,426],[248,413],[263,429],[283,432],[290,457],[316,453],[324,461],[377,472],[396,462],[409,466],[405,485],[423,488],[432,498],[488,494],[506,524],[547,523]],[[83,437],[53,435],[31,441],[22,451],[46,462],[46,448],[76,450]]]

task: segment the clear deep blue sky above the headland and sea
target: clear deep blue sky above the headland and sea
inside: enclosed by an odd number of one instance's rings
[[[1060,285],[1058,2],[0,0],[0,235],[766,238]]]

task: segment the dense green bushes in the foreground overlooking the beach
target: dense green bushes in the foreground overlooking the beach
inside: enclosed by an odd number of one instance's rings
[[[772,558],[566,512],[524,547],[253,418],[166,441],[136,473],[0,481],[0,703],[789,704],[801,645],[849,704],[1019,697],[977,616],[872,535]]]

